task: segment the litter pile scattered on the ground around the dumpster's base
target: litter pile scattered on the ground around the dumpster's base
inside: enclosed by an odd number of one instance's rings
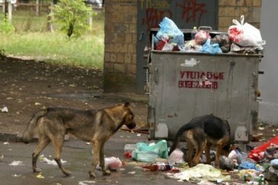
[[[214,164],[204,164],[203,154],[200,164],[189,167],[183,160],[186,147],[177,148],[168,157],[167,141],[157,143],[140,142],[127,144],[124,155],[128,159],[141,162],[145,171],[163,171],[166,177],[196,184],[267,184],[278,182],[278,136],[249,153],[234,147],[227,157],[220,157],[220,169]],[[211,159],[215,151],[211,150]],[[120,168],[120,167],[119,167]]]

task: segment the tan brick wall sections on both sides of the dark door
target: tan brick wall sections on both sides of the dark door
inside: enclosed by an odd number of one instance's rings
[[[136,92],[137,3],[136,0],[105,2],[105,92]],[[218,30],[227,30],[232,19],[240,19],[240,15],[260,27],[261,0],[219,0],[215,11],[219,15]]]

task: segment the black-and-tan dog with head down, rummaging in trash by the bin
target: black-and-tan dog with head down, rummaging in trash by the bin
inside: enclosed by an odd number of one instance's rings
[[[179,138],[183,135],[188,144],[186,161],[190,167],[199,164],[199,158],[204,150],[206,163],[211,164],[210,148],[211,145],[216,145],[215,167],[219,168],[220,155],[228,155],[230,151],[230,134],[229,123],[213,114],[193,118],[179,128],[169,155],[177,148]],[[192,160],[194,148],[196,148],[196,154]]]

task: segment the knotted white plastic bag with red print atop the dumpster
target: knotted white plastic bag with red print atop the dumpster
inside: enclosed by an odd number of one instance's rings
[[[265,41],[261,39],[261,32],[247,22],[244,23],[244,16],[241,15],[240,22],[233,19],[232,25],[228,29],[229,39],[238,44],[239,46],[256,46],[261,47],[265,44]]]

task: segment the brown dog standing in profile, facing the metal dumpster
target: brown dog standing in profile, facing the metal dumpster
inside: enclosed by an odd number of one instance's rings
[[[54,159],[59,168],[65,175],[71,174],[70,171],[63,168],[60,161],[64,136],[69,133],[83,141],[92,142],[93,159],[90,176],[96,177],[97,164],[101,166],[103,175],[110,175],[111,172],[104,167],[104,143],[122,125],[126,125],[129,129],[136,127],[133,118],[134,114],[129,103],[90,110],[49,107],[37,112],[22,137],[24,143],[28,143],[35,131],[38,132],[38,146],[32,157],[33,172],[41,171],[36,165],[38,157],[40,152],[52,142],[55,151]]]

